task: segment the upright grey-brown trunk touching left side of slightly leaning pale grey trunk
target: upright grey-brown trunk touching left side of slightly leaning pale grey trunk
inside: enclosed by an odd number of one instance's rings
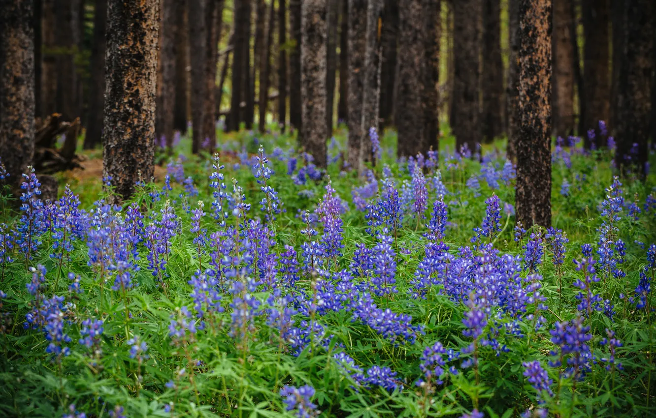
[[[362,146],[362,94],[367,44],[367,0],[348,1],[348,164],[359,171]]]

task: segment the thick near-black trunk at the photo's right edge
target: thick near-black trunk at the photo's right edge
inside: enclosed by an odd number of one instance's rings
[[[615,164],[623,175],[638,174],[644,179],[649,159],[647,138],[651,127],[656,5],[649,0],[625,0],[624,6],[624,55],[619,71]]]

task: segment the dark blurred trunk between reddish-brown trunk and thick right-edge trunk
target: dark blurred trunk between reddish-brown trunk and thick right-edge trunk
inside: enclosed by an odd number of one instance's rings
[[[600,135],[599,121],[608,121],[610,113],[610,79],[609,79],[609,34],[608,34],[608,0],[583,0],[583,32],[585,44],[583,49],[583,80],[585,113],[583,113],[584,145],[589,148],[592,143],[586,132],[595,130],[597,146],[605,146],[605,138]]]

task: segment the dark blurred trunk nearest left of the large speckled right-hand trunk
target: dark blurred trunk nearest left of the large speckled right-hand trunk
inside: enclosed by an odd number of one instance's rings
[[[503,62],[501,60],[501,0],[483,0],[483,138],[503,134]]]

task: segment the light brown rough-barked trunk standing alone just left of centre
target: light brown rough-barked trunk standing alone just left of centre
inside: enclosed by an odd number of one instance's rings
[[[304,0],[301,6],[301,144],[319,167],[326,166],[326,3]]]

